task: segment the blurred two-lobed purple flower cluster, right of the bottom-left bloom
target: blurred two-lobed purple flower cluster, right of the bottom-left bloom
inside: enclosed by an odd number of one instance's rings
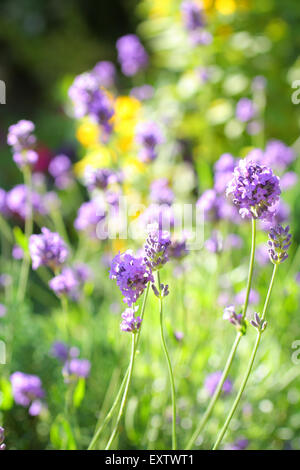
[[[51,355],[63,363],[62,374],[65,383],[77,381],[80,378],[88,378],[91,370],[91,363],[88,359],[80,359],[79,349],[69,347],[65,343],[56,341],[51,348]]]

